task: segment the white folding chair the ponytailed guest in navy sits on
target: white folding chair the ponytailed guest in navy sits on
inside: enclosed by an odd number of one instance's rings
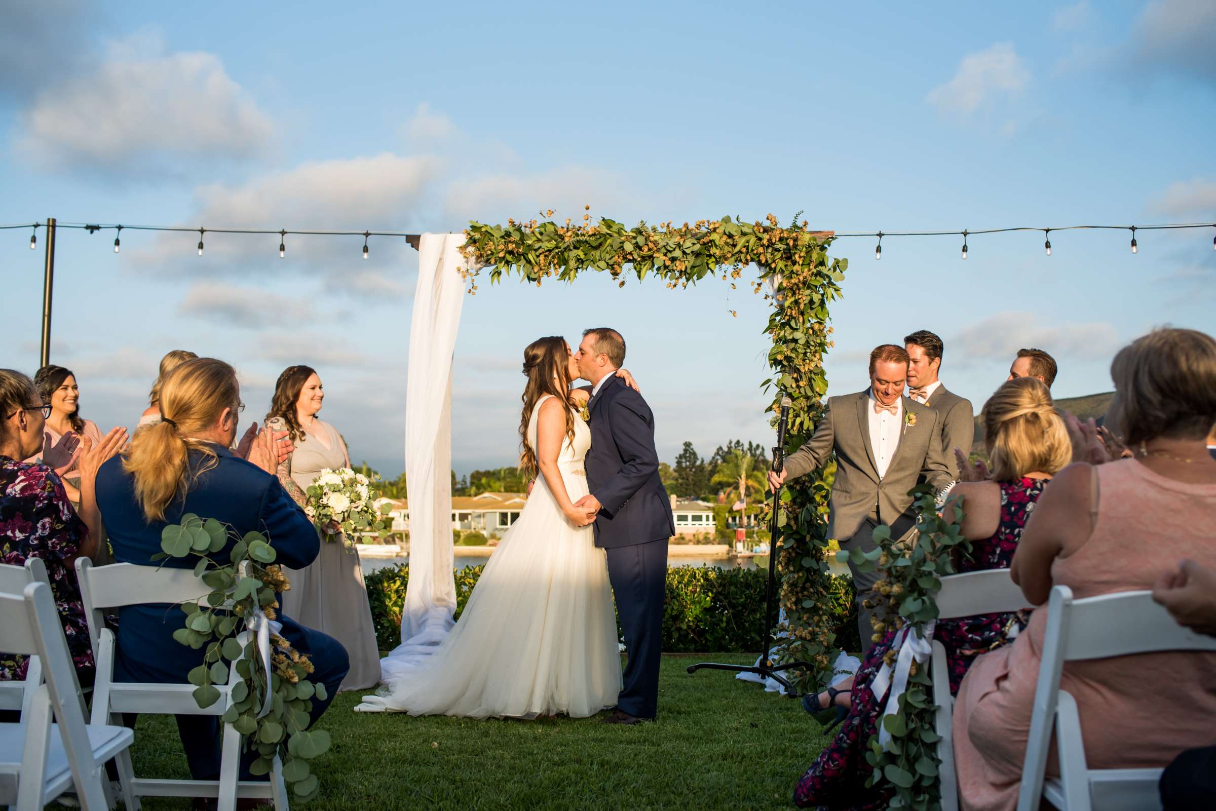
[[[114,633],[103,624],[103,609],[146,603],[195,602],[213,588],[195,576],[191,569],[141,567],[114,563],[95,567],[88,558],[77,559],[77,578],[89,621],[89,638],[97,660],[94,687],[92,717],[119,717],[120,713],[150,715],[214,715],[221,716],[231,705],[232,686],[241,680],[236,668],[230,668],[229,683],[216,685],[220,699],[208,708],[195,700],[195,686],[186,683],[147,683],[114,681]],[[220,778],[218,781],[176,781],[136,777],[131,793],[139,811],[140,796],[206,796],[218,798],[218,811],[235,811],[237,798],[271,799],[277,811],[288,811],[287,787],[282,762],[275,756],[269,782],[240,781],[241,733],[231,723],[223,723]]]

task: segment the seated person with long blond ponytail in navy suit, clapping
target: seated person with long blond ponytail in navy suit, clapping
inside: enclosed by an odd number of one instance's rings
[[[174,368],[161,385],[162,421],[141,428],[122,457],[102,466],[97,503],[109,531],[114,558],[122,563],[191,568],[192,559],[168,558],[157,564],[161,531],[186,513],[214,518],[238,535],[264,533],[278,562],[303,568],[317,554],[320,540],[313,522],[283,491],[275,475],[280,451],[276,437],[264,430],[252,443],[248,461],[229,451],[243,409],[236,372],[212,357],[190,360]],[[283,445],[286,447],[286,444]],[[212,558],[224,564],[227,548]],[[347,675],[347,652],[333,638],[300,626],[280,614],[281,636],[311,658],[314,681],[327,688],[327,699],[313,698],[315,721],[338,693]],[[119,612],[114,678],[130,682],[186,682],[203,663],[195,651],[173,638],[185,621],[175,606],[131,606]],[[216,779],[220,771],[219,719],[179,715],[190,771],[195,779]],[[248,779],[248,759],[242,779]]]

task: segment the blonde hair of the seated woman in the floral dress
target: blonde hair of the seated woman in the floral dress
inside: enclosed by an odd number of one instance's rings
[[[1028,473],[1054,475],[1073,458],[1064,419],[1037,377],[1007,381],[984,404],[984,445],[992,478],[1017,481]]]

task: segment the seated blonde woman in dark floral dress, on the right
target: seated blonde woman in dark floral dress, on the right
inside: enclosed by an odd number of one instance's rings
[[[1021,529],[1034,512],[1047,481],[1071,461],[1071,443],[1064,421],[1052,404],[1051,392],[1037,378],[1004,383],[984,405],[985,444],[992,480],[962,483],[951,491],[952,505],[963,500],[961,525],[970,541],[970,554],[958,571],[1008,569]],[[933,638],[946,649],[950,692],[955,694],[976,657],[1009,642],[1026,625],[1026,612],[985,614],[941,620]],[[845,688],[815,697],[817,708],[844,708],[840,732],[798,781],[794,802],[799,807],[886,809],[890,793],[867,788],[872,768],[866,762],[867,743],[878,732],[885,695],[871,689],[874,676],[891,649],[895,631],[885,633],[866,657]],[[811,706],[810,709],[816,709]]]

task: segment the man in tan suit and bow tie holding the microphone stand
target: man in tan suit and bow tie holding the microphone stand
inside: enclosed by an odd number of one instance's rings
[[[828,398],[815,434],[786,460],[781,473],[770,473],[771,486],[823,467],[835,452],[828,536],[845,551],[869,552],[874,528],[886,524],[893,537],[912,533],[916,514],[908,491],[923,477],[942,489],[953,475],[941,449],[936,411],[903,396],[908,354],[884,344],[869,353],[869,387],[857,394]],[[857,590],[857,629],[863,653],[873,647],[873,609],[863,602],[878,581],[873,571],[857,571],[850,563]]]

